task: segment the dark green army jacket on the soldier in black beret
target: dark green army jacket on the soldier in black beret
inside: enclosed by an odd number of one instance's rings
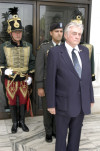
[[[44,88],[44,80],[46,79],[47,56],[49,49],[54,47],[52,41],[41,44],[36,56],[35,80],[37,88]]]

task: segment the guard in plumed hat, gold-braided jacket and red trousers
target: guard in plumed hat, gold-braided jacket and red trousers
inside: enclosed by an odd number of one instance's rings
[[[21,19],[17,15],[18,8],[10,8],[9,13],[13,15],[8,20],[7,32],[11,41],[6,41],[0,46],[0,68],[5,77],[6,95],[9,100],[12,128],[11,132],[16,133],[18,126],[28,132],[25,124],[25,110],[28,98],[28,85],[32,83],[34,72],[34,56],[32,45],[22,40]],[[17,97],[19,98],[19,114],[17,115]]]

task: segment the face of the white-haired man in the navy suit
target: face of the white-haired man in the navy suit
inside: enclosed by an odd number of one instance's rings
[[[81,28],[75,26],[70,27],[69,31],[64,34],[66,42],[73,48],[80,43],[81,36]]]

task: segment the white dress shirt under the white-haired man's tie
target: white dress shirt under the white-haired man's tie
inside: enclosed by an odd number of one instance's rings
[[[67,42],[65,42],[65,47],[67,48],[67,52],[68,52],[69,57],[70,57],[70,59],[71,59],[71,61],[73,63],[73,60],[72,60],[72,50],[73,50],[73,48],[69,44],[67,44]],[[80,67],[82,68],[82,61],[81,61],[81,58],[80,58],[80,55],[79,55],[80,50],[79,50],[78,45],[74,49],[75,49],[74,52],[75,52],[75,54],[76,54],[76,56],[78,58]]]

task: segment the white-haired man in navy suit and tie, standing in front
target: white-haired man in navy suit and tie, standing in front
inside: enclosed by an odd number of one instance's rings
[[[82,32],[82,23],[71,21],[65,27],[65,43],[48,54],[47,106],[56,115],[55,151],[79,150],[84,115],[94,102],[89,51],[79,45]]]

